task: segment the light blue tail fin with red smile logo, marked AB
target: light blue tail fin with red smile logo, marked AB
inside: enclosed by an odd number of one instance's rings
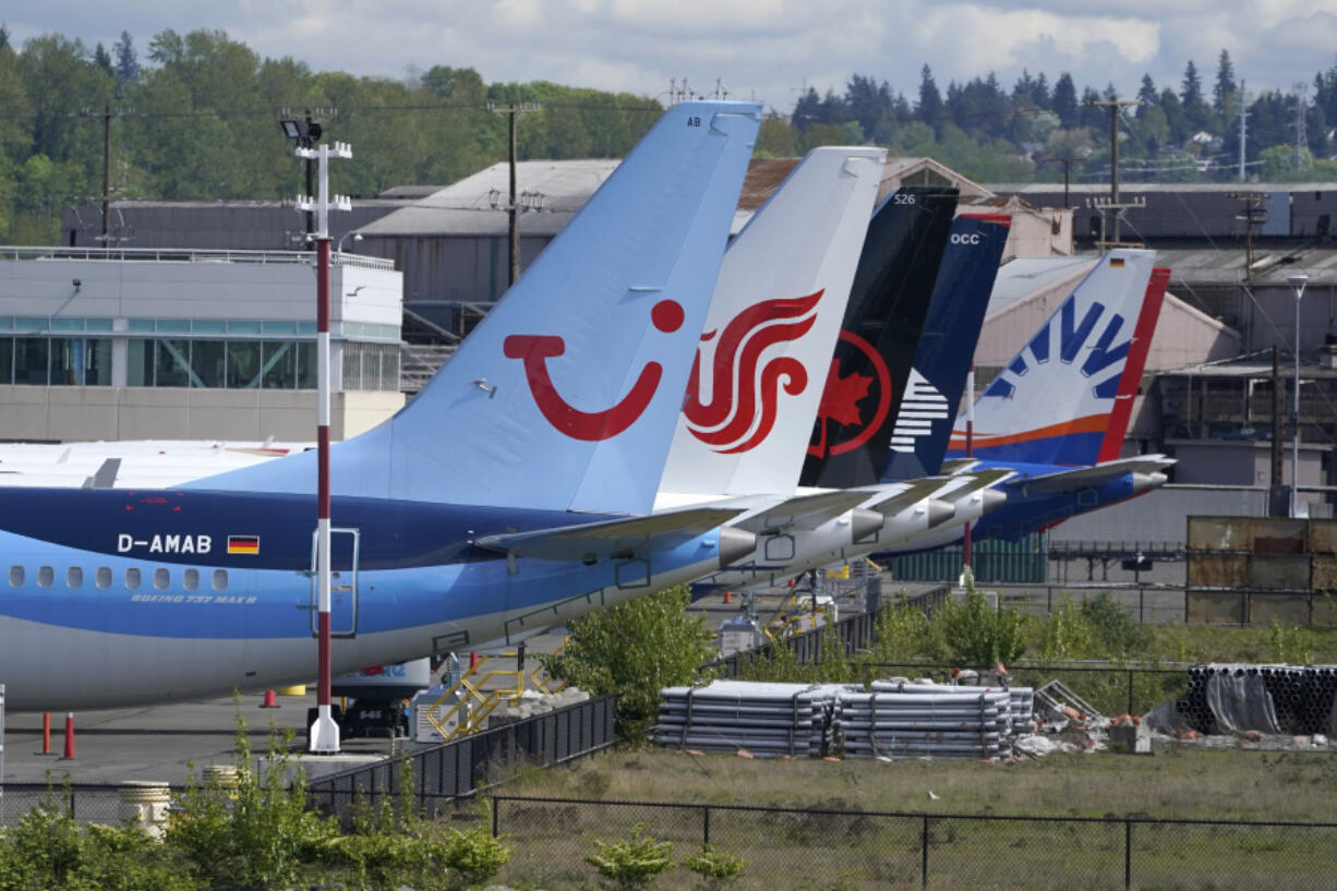
[[[666,111],[422,392],[332,450],[334,494],[650,510],[759,118]],[[194,484],[314,486],[313,455]]]

